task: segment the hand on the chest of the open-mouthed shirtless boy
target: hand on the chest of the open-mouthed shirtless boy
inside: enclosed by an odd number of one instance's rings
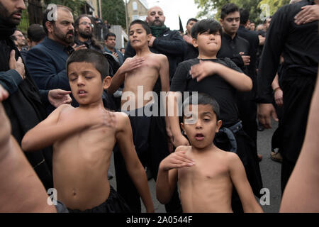
[[[193,165],[195,165],[194,160],[185,155],[184,150],[178,150],[168,155],[160,164],[164,171],[178,169],[181,167],[192,167]]]

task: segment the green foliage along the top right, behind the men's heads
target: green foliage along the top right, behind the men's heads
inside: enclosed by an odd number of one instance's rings
[[[289,4],[290,0],[194,0],[201,11],[198,18],[215,18],[219,20],[220,9],[223,5],[234,3],[240,8],[250,11],[250,21],[254,23],[262,23],[260,19],[262,4],[269,5],[270,16],[273,15],[281,6]]]

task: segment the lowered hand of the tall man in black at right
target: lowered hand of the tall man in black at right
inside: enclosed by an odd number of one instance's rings
[[[258,104],[257,115],[258,121],[262,123],[264,128],[272,128],[270,116],[272,116],[275,121],[278,121],[276,110],[272,104]]]

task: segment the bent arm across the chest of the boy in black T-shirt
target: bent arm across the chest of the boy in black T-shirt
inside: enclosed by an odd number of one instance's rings
[[[197,65],[193,65],[190,71],[191,77],[201,81],[208,76],[218,74],[227,81],[230,85],[235,87],[238,91],[249,92],[252,89],[252,79],[242,72],[232,70],[225,65],[221,65],[211,61],[201,61]]]

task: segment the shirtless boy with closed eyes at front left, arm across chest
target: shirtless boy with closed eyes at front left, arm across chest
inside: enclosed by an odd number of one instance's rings
[[[135,152],[128,116],[103,108],[103,89],[111,84],[106,66],[99,52],[75,51],[67,60],[67,74],[79,108],[60,106],[28,131],[22,146],[31,151],[53,145],[57,198],[69,211],[127,212],[107,178],[112,150],[118,143],[146,210],[152,212],[147,177]]]

